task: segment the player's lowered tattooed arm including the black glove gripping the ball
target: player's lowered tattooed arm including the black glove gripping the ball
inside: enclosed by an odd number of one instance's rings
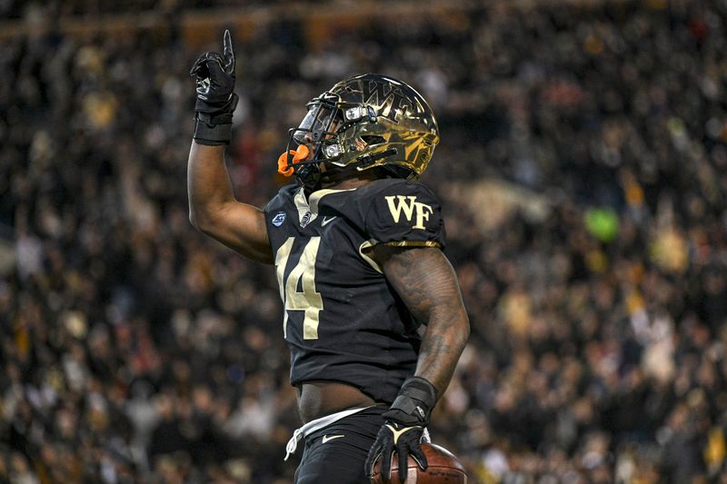
[[[437,398],[452,379],[470,335],[470,322],[457,276],[439,248],[377,245],[374,257],[413,317],[426,325],[416,372],[404,382],[391,409],[383,414],[386,424],[367,460],[371,474],[373,463],[382,455],[382,473],[387,476],[395,452],[399,458],[399,479],[403,480],[407,455],[423,469],[427,467],[420,448],[423,429]]]

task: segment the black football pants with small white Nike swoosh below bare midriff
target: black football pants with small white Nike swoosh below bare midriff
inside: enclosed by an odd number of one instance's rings
[[[308,435],[295,484],[369,484],[364,462],[386,410],[361,410]]]

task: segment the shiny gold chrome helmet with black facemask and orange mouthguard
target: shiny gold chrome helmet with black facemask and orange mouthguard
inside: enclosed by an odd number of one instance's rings
[[[439,143],[436,119],[422,95],[386,75],[351,77],[307,106],[278,163],[280,173],[295,173],[304,186],[314,187],[322,176],[341,180],[376,166],[416,180]],[[305,160],[308,151],[314,154]]]

